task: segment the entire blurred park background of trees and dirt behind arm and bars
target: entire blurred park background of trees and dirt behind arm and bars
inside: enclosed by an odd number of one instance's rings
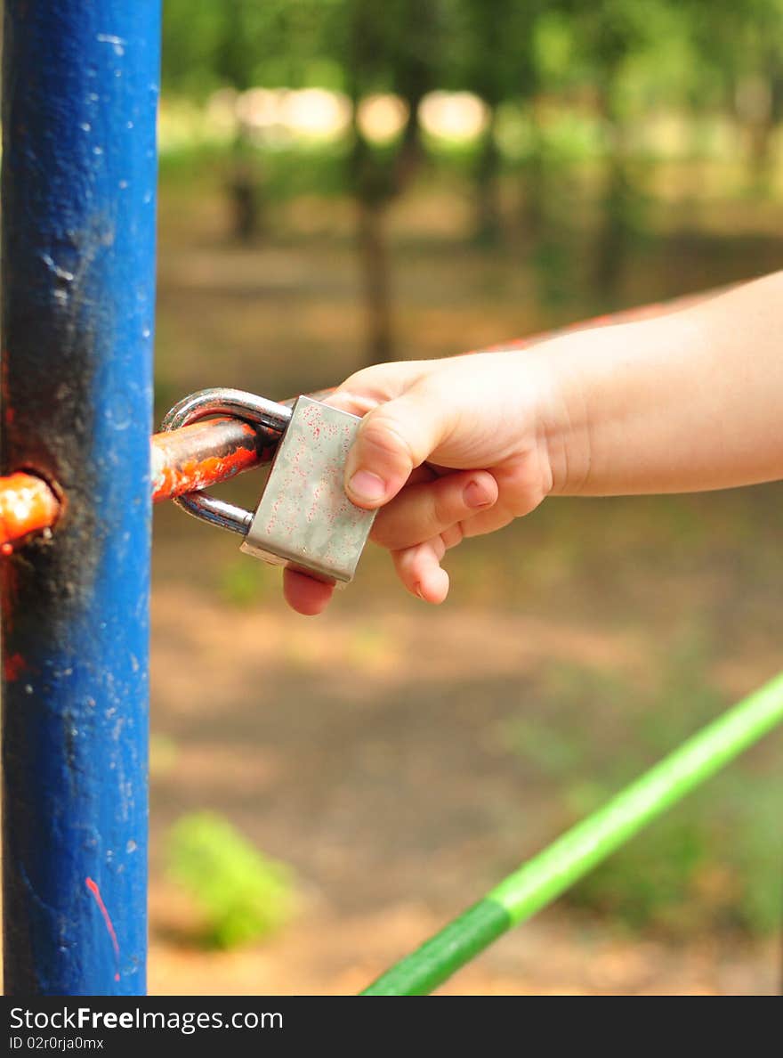
[[[164,8],[159,421],[783,264],[782,0]],[[357,990],[771,676],[782,501],[553,499],[315,620],[159,509],[150,990]],[[778,734],[446,990],[775,990],[782,804]]]

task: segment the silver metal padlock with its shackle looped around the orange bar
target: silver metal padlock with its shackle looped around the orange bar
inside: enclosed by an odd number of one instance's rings
[[[204,492],[174,500],[189,514],[241,533],[241,550],[338,586],[353,580],[375,511],[356,507],[342,485],[360,419],[312,397],[293,407],[239,389],[203,389],[166,415],[163,430],[231,415],[280,431],[255,514]]]

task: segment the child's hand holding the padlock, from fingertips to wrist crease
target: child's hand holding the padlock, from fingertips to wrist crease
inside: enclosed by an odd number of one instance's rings
[[[449,588],[441,561],[465,536],[537,507],[553,487],[546,375],[527,351],[380,364],[329,398],[363,416],[346,491],[378,511],[372,540],[405,587],[431,603]],[[285,598],[319,613],[332,587],[285,570]]]

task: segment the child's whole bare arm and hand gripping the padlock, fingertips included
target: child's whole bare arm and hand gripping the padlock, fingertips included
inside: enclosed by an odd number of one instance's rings
[[[429,603],[446,551],[547,496],[724,489],[783,478],[783,272],[695,307],[524,350],[379,364],[329,403],[362,416],[346,491]],[[300,614],[332,587],[285,570]]]

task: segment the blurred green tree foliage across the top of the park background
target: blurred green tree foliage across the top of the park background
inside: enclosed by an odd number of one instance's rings
[[[315,86],[346,92],[354,105],[375,92],[402,97],[408,118],[393,143],[378,150],[354,122],[332,154],[339,166],[286,185],[286,197],[305,194],[302,183],[329,195],[336,182],[356,199],[374,247],[371,256],[368,239],[359,241],[363,268],[378,275],[386,274],[385,206],[408,190],[433,153],[450,150],[422,142],[416,115],[433,89],[468,90],[488,107],[465,174],[476,200],[474,234],[487,245],[508,235],[500,180],[508,168],[502,140],[509,142],[509,125],[499,132],[498,113],[512,102],[533,115],[524,147],[511,153],[528,163],[521,184],[536,204],[524,235],[541,243],[540,296],[548,305],[561,303],[573,281],[561,264],[558,226],[568,211],[541,204],[558,194],[553,162],[576,169],[590,157],[603,166],[601,224],[590,254],[594,294],[604,308],[619,294],[629,254],[649,233],[649,153],[659,149],[645,142],[651,117],[687,115],[693,153],[704,122],[722,111],[742,138],[748,193],[768,193],[773,131],[783,115],[783,0],[167,0],[164,13],[169,93],[203,102],[221,86],[239,92]],[[257,165],[240,157],[254,135],[242,122],[227,135],[235,157],[225,183],[236,234],[245,241],[266,227],[261,198],[276,197],[265,160]],[[259,147],[254,142],[256,156]],[[292,172],[316,160],[303,157]]]

